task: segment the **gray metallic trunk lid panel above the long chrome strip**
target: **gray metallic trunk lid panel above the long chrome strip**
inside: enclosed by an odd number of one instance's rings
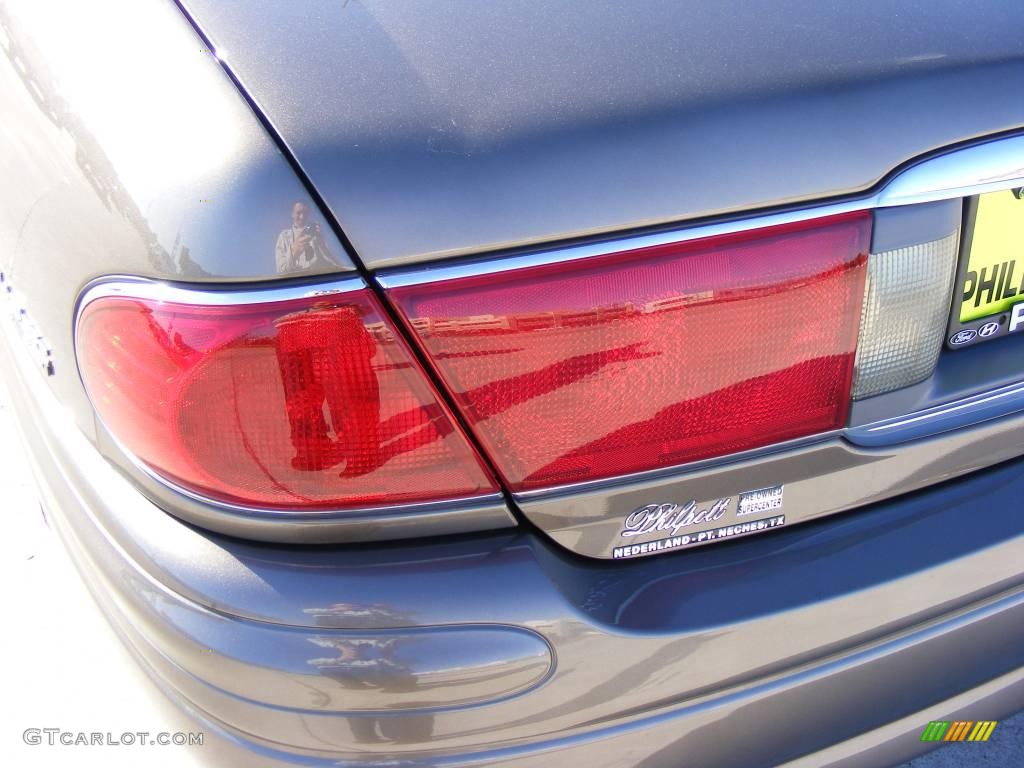
[[[1024,124],[1013,0],[182,5],[369,268],[851,195]]]

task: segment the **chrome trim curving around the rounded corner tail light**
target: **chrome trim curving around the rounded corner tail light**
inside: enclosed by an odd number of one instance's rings
[[[232,290],[231,286],[223,290],[209,290],[205,286],[193,289],[141,278],[112,276],[94,283],[82,293],[75,313],[75,344],[77,347],[82,309],[99,298],[117,296],[174,304],[229,306],[335,296],[365,288],[367,284],[361,278],[350,275],[300,286],[268,285],[243,290]],[[78,373],[81,381],[81,370]],[[84,381],[82,387],[85,389]],[[500,492],[387,507],[324,510],[248,507],[220,502],[163,477],[129,451],[108,429],[98,413],[95,419],[104,438],[100,442],[101,453],[129,474],[151,501],[177,517],[223,534],[261,541],[323,543],[465,534],[516,525]],[[103,450],[103,443],[113,451]]]

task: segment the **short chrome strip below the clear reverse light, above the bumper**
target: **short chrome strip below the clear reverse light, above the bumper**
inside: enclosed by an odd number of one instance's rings
[[[1024,382],[964,397],[943,406],[894,419],[847,427],[844,436],[855,445],[897,445],[1024,411]]]

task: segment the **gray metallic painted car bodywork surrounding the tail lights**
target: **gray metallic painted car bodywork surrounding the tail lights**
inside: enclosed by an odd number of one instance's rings
[[[110,275],[323,280],[274,270],[267,241],[295,200],[323,204],[332,271],[367,278],[862,198],[911,161],[1024,127],[1018,3],[184,5],[195,28],[157,0],[77,11],[91,69],[75,79],[67,36],[0,2],[0,270],[53,366],[4,335],[44,505],[196,717],[314,764],[852,766],[920,750],[929,720],[1020,709],[1019,459],[632,563],[580,558],[524,522],[259,544],[139,493],[73,335],[82,291]],[[988,365],[1008,344],[962,354]],[[1007,413],[933,441],[919,484],[1018,455]],[[965,456],[984,430],[993,455]],[[358,646],[379,663],[346,665]]]

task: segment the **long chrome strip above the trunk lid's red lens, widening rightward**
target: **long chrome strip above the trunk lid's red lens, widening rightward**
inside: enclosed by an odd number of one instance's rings
[[[1017,186],[1024,186],[1024,135],[997,138],[923,160],[898,173],[873,195],[855,200],[780,213],[748,215],[711,224],[513,256],[483,257],[432,266],[418,265],[412,268],[388,269],[379,272],[375,279],[385,290],[406,288],[424,283],[577,261],[650,246],[685,243],[699,238],[749,231],[853,211],[928,203]]]

